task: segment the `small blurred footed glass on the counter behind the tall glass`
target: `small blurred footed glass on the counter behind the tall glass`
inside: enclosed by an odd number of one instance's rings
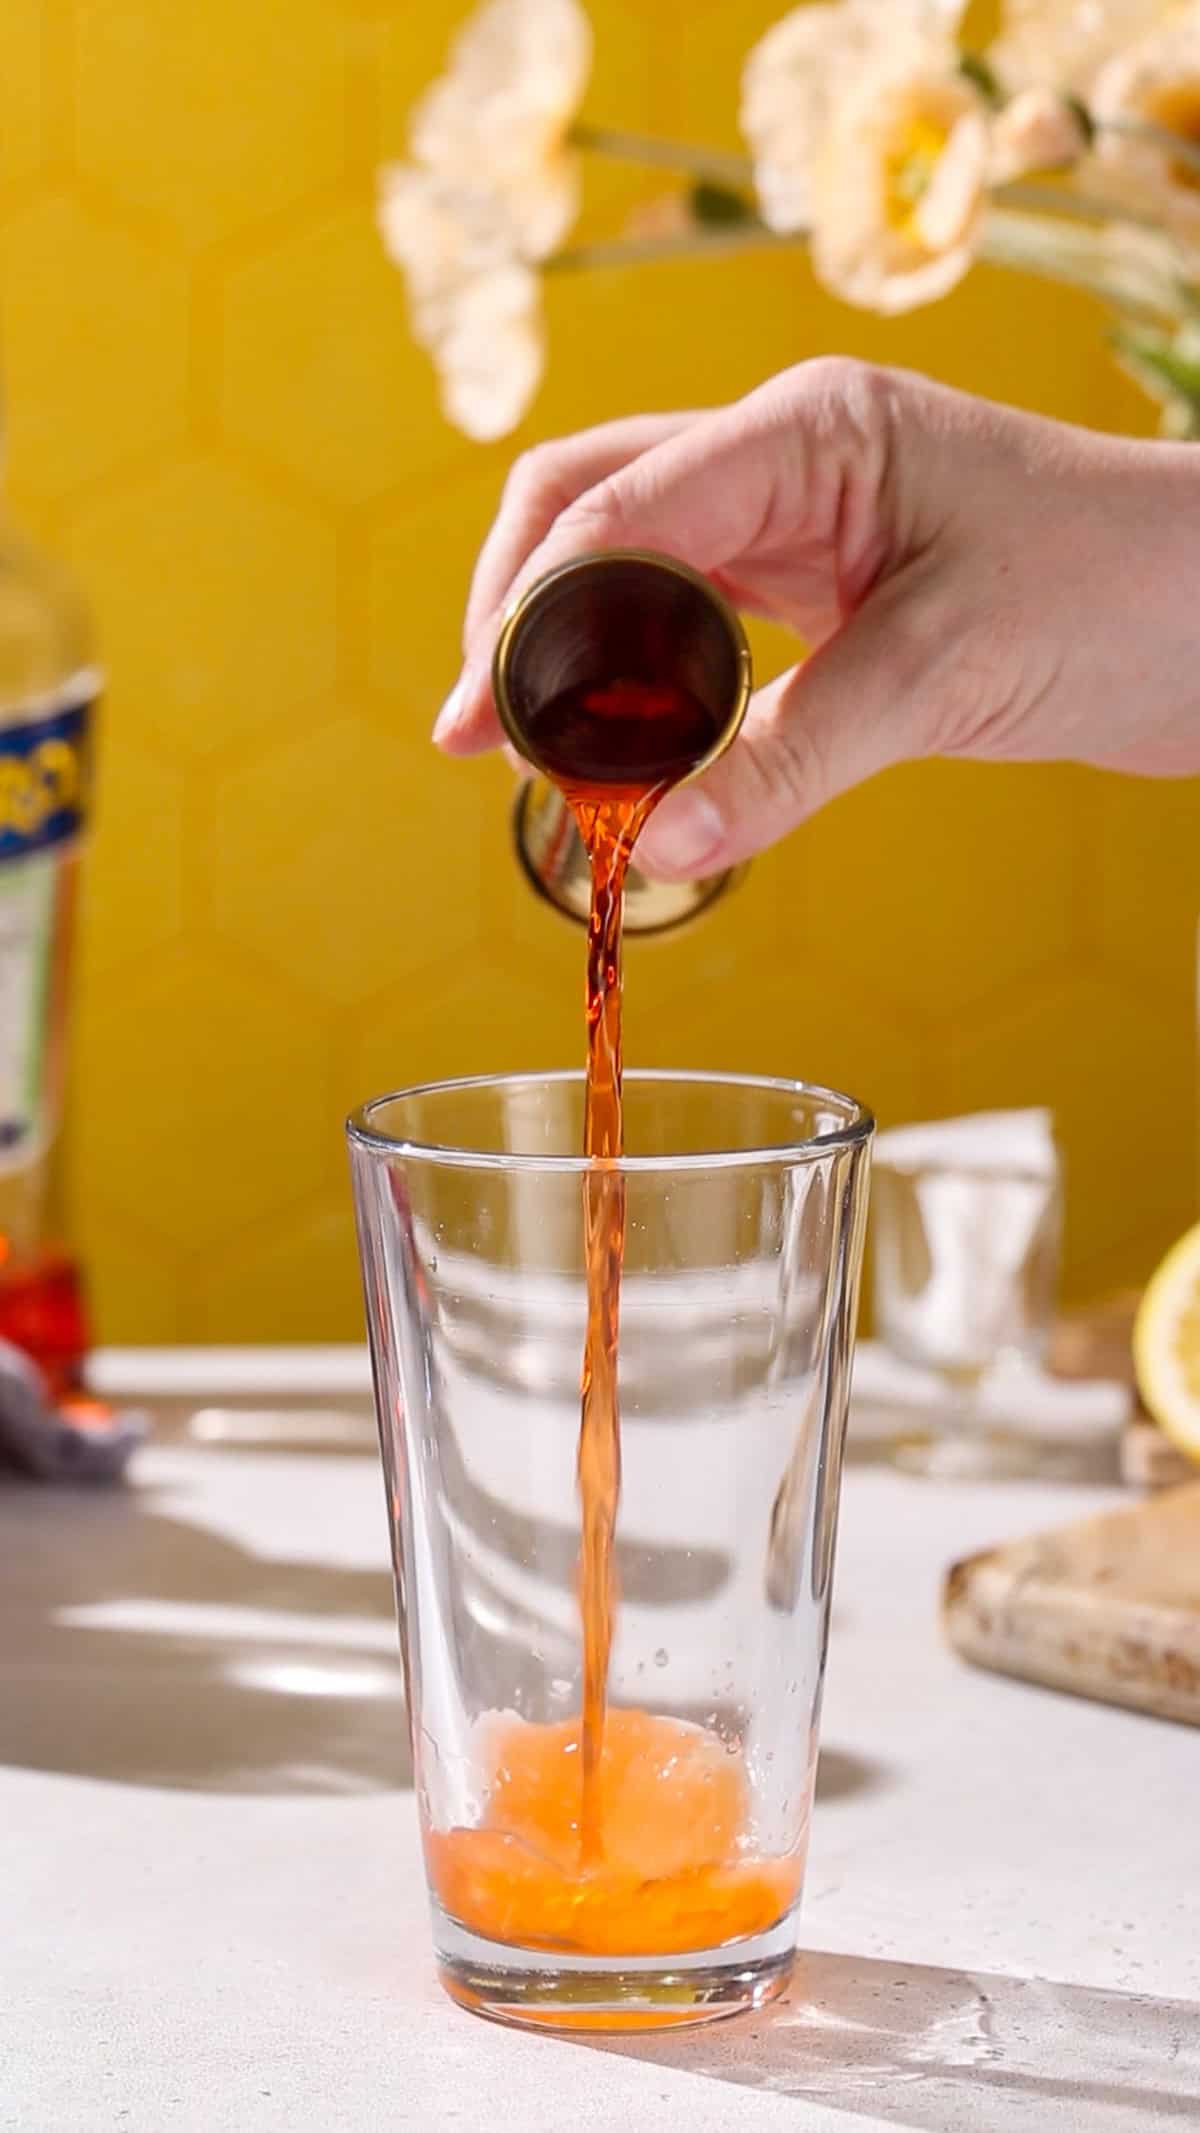
[[[882,1346],[957,1397],[895,1440],[938,1478],[1038,1472],[1047,1446],[1000,1418],[1000,1376],[1044,1363],[1057,1295],[1061,1173],[1049,1111],[980,1111],[876,1141],[874,1316]],[[1000,1414],[998,1414],[1000,1406]]]

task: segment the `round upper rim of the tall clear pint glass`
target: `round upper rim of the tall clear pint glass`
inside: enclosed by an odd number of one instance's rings
[[[433,1162],[443,1169],[465,1169],[465,1171],[522,1171],[550,1173],[550,1175],[584,1175],[597,1162],[593,1156],[541,1156],[541,1154],[505,1154],[494,1148],[456,1148],[450,1141],[422,1141],[411,1135],[382,1133],[371,1124],[371,1116],[382,1111],[390,1103],[403,1103],[411,1096],[450,1096],[467,1094],[469,1090],[484,1088],[516,1088],[518,1084],[565,1084],[573,1081],[582,1088],[584,1069],[582,1066],[554,1066],[544,1073],[480,1073],[480,1075],[452,1075],[437,1081],[413,1081],[411,1088],[396,1088],[384,1096],[369,1096],[367,1103],[356,1105],[356,1109],[345,1120],[345,1135],[352,1148],[362,1148],[375,1156],[403,1156],[409,1162]],[[842,1148],[865,1148],[876,1130],[874,1113],[867,1111],[865,1103],[857,1096],[848,1096],[844,1090],[827,1088],[821,1081],[793,1081],[784,1075],[757,1075],[757,1073],[708,1073],[706,1069],[671,1069],[671,1066],[631,1066],[625,1073],[625,1086],[631,1084],[686,1084],[693,1088],[742,1088],[759,1090],[774,1096],[806,1098],[814,1105],[827,1103],[846,1111],[846,1122],[833,1126],[825,1133],[812,1133],[795,1141],[774,1141],[765,1148],[712,1148],[712,1150],[688,1150],[686,1154],[669,1156],[618,1156],[610,1158],[607,1169],[622,1171],[627,1175],[654,1175],[661,1171],[731,1171],[731,1169],[761,1169],[765,1165],[789,1165],[789,1162],[818,1162],[823,1156],[836,1154]]]

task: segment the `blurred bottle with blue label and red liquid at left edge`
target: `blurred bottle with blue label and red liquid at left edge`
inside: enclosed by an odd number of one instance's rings
[[[96,693],[70,580],[0,518],[0,1340],[60,1397],[87,1348],[60,1128]]]

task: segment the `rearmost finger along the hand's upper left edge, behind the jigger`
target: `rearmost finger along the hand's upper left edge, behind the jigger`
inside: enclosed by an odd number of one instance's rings
[[[471,578],[463,653],[469,653],[480,625],[501,606],[526,555],[546,540],[558,512],[584,488],[603,482],[693,420],[691,414],[644,414],[627,422],[601,422],[578,437],[537,444],[516,461]]]

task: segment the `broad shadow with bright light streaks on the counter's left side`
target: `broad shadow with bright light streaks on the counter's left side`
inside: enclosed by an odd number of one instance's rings
[[[202,1792],[411,1783],[384,1570],[277,1561],[153,1487],[0,1487],[0,1764]]]

